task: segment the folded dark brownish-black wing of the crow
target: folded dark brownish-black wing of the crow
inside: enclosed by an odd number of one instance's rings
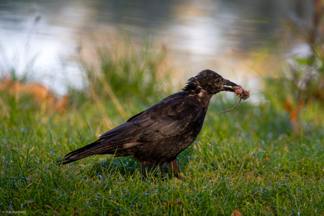
[[[182,92],[173,94],[106,132],[99,140],[108,146],[130,142],[137,145],[182,134],[201,113],[201,108],[192,100],[193,96]]]

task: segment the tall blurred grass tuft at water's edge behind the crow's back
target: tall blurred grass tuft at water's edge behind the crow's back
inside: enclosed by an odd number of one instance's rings
[[[146,104],[157,103],[161,93],[170,93],[171,70],[166,68],[167,51],[163,46],[154,47],[151,41],[144,40],[141,47],[134,47],[130,40],[117,44],[94,44],[95,62],[80,54],[77,62],[84,71],[86,88],[79,91],[99,97],[101,101],[118,98],[120,103],[139,101]],[[70,94],[75,94],[70,89]],[[107,97],[108,95],[108,97]],[[118,102],[117,102],[118,103]]]

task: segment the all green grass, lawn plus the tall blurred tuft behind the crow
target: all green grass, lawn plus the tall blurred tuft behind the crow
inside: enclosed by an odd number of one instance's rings
[[[214,96],[201,134],[178,155],[182,180],[154,167],[143,179],[131,157],[55,165],[180,91],[168,85],[168,72],[159,77],[163,53],[144,50],[118,59],[100,51],[96,70],[81,59],[87,86],[71,88],[66,106],[18,91],[15,80],[0,88],[1,215],[324,214],[323,102],[310,98],[296,110],[285,99],[298,89],[282,91],[296,87],[289,79],[266,81],[271,91],[261,92],[260,103],[242,101],[230,113],[218,114],[234,106],[233,95]],[[27,87],[27,80],[20,82],[20,89]]]

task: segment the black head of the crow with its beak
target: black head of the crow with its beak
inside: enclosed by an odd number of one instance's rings
[[[187,81],[185,91],[207,91],[209,95],[217,94],[220,91],[232,91],[232,87],[238,87],[234,82],[224,79],[213,70],[203,70],[195,77]]]

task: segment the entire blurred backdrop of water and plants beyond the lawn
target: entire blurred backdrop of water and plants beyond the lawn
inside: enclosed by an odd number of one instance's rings
[[[0,91],[43,113],[92,101],[113,127],[208,68],[251,90],[241,111],[253,131],[267,113],[285,134],[321,124],[322,18],[320,0],[0,0]],[[235,103],[223,95],[217,110]]]

